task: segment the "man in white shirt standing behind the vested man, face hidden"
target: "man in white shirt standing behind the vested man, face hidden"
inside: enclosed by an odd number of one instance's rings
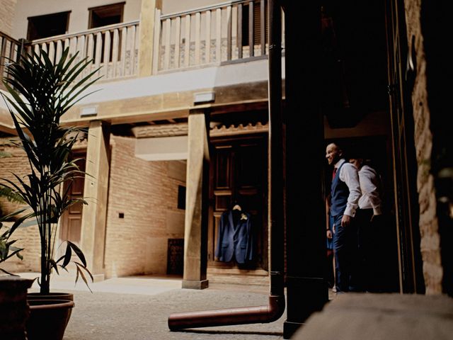
[[[382,183],[377,171],[362,158],[349,162],[359,171],[359,209],[356,213],[360,255],[360,280],[368,291],[379,290],[379,218],[382,215]]]

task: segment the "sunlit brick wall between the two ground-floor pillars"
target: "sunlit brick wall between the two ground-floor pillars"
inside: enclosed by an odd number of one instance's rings
[[[185,166],[134,157],[133,138],[112,136],[111,145],[105,277],[164,274],[168,238],[184,236],[177,205],[185,175],[175,169]]]

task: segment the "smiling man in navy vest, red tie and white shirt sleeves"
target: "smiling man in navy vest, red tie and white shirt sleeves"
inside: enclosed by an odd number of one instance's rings
[[[355,210],[362,193],[357,168],[346,162],[338,143],[326,147],[326,159],[333,165],[330,214],[333,217],[333,251],[336,259],[338,292],[357,287],[357,226]]]

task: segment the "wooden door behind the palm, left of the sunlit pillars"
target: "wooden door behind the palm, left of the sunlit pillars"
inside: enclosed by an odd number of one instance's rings
[[[79,166],[79,169],[81,171],[85,171],[86,164],[86,161],[84,159],[85,154],[75,154],[74,157],[80,159],[77,162],[77,165]],[[74,181],[72,181],[71,184],[66,183],[64,190],[67,190],[67,186],[70,185],[69,193],[71,195],[71,198],[83,198],[84,183],[85,183],[84,177],[78,177],[74,179]],[[62,222],[59,233],[59,237],[62,242],[69,240],[71,242],[79,244],[81,234],[82,210],[83,204],[76,203],[74,205],[71,205],[71,207],[69,207],[69,209],[66,210],[62,215],[61,220]]]

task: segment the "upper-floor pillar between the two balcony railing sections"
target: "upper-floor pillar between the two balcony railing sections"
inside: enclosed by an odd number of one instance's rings
[[[140,13],[139,77],[150,76],[152,72],[156,8],[162,8],[162,0],[142,0],[142,11]],[[158,52],[156,51],[156,53]]]

